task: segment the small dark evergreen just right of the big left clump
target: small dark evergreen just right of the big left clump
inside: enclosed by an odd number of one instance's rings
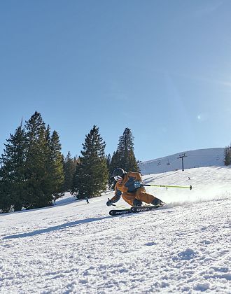
[[[71,153],[67,153],[64,158],[64,191],[72,190],[73,174],[76,170],[76,162],[71,158]]]

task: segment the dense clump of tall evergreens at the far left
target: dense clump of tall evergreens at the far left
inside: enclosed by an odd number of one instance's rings
[[[62,192],[64,172],[59,135],[50,137],[37,111],[5,144],[0,158],[0,210],[45,207]]]

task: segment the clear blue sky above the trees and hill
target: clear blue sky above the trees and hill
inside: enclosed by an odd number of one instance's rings
[[[137,160],[231,141],[230,0],[0,1],[0,151],[35,111],[80,155],[93,125]]]

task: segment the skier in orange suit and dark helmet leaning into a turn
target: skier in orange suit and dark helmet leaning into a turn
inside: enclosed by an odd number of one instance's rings
[[[118,202],[120,196],[123,200],[132,206],[141,206],[142,201],[153,205],[162,205],[160,199],[146,193],[144,187],[141,186],[141,174],[139,172],[125,172],[120,167],[113,171],[113,177],[117,181],[115,186],[115,195],[106,202],[109,207],[111,204]]]

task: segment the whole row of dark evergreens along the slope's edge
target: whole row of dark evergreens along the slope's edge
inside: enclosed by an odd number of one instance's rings
[[[0,158],[0,212],[48,207],[66,191],[76,198],[97,197],[113,188],[113,169],[139,172],[132,131],[125,128],[118,148],[105,154],[106,143],[94,125],[78,158],[62,155],[57,131],[50,131],[41,113],[10,134]]]

